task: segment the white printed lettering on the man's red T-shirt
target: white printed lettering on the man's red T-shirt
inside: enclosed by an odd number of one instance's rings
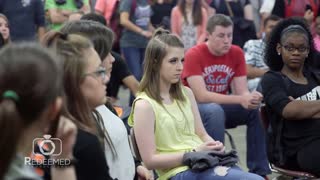
[[[219,64],[205,67],[202,77],[208,91],[225,94],[234,74],[228,65]]]

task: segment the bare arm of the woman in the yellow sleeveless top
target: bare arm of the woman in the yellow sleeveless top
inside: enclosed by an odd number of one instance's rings
[[[148,169],[174,168],[182,164],[184,153],[157,154],[154,135],[155,114],[149,102],[136,101],[133,118],[139,152]]]

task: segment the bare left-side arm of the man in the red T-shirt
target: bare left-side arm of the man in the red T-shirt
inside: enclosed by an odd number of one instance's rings
[[[241,104],[242,102],[241,96],[224,95],[208,91],[203,78],[199,75],[190,76],[187,78],[187,81],[199,103]]]

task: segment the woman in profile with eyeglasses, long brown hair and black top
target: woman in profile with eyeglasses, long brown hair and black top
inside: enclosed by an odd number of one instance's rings
[[[78,179],[112,179],[104,155],[104,142],[110,142],[95,107],[106,101],[109,77],[89,39],[75,34],[49,32],[44,44],[51,47],[63,63],[66,107],[76,120],[79,135],[74,148]],[[105,140],[105,141],[104,141]],[[112,151],[112,149],[110,149]]]

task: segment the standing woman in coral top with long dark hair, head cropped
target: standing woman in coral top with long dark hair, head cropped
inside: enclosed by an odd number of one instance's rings
[[[188,50],[206,39],[207,12],[200,0],[180,0],[172,9],[171,32],[177,34]]]

